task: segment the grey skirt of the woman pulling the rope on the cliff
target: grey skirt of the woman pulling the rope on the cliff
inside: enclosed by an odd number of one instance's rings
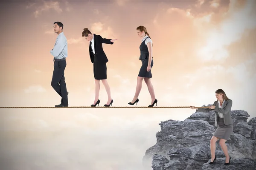
[[[219,139],[228,140],[230,138],[231,133],[233,132],[233,124],[225,125],[224,118],[218,118],[218,127],[215,130],[213,136]]]

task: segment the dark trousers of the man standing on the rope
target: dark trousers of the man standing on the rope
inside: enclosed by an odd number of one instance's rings
[[[66,59],[55,59],[51,85],[52,88],[61,96],[61,105],[68,106],[67,86],[64,77],[66,65]]]

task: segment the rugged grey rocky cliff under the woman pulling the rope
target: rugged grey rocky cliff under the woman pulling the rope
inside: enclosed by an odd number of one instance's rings
[[[224,165],[225,155],[216,142],[215,164],[211,161],[210,139],[217,127],[215,113],[195,112],[184,121],[161,122],[157,143],[146,150],[143,163],[151,163],[153,170],[256,170],[256,117],[247,119],[246,111],[231,112],[233,134],[226,142],[231,157]]]

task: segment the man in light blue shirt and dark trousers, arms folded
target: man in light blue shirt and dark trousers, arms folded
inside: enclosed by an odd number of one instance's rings
[[[67,87],[64,77],[67,57],[67,39],[62,32],[63,24],[61,22],[53,23],[54,32],[58,34],[54,48],[50,53],[54,57],[54,71],[52,74],[52,88],[61,96],[61,104],[55,107],[68,107]]]

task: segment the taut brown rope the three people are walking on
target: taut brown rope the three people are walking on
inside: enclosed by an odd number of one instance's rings
[[[110,106],[110,107],[105,107],[105,106],[96,106],[96,107],[91,107],[91,106],[69,106],[69,107],[44,107],[44,106],[29,106],[29,107],[0,107],[0,109],[27,109],[27,108],[32,108],[32,109],[37,109],[37,108],[190,108],[190,106],[160,106],[160,107],[147,107],[147,106]],[[195,108],[209,108],[209,106],[204,106],[204,107],[195,107]]]

